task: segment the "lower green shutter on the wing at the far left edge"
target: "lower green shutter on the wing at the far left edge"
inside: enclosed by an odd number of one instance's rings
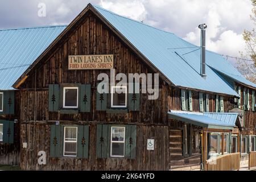
[[[14,122],[13,121],[0,121],[3,124],[3,143],[14,143]]]

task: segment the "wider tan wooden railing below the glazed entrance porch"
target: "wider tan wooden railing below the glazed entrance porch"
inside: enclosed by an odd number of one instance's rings
[[[234,171],[238,169],[240,169],[240,153],[209,159],[205,165],[205,171]]]

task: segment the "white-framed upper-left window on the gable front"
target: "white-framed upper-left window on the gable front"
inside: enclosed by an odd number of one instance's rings
[[[78,108],[79,103],[79,88],[64,87],[63,88],[63,108],[71,109]]]

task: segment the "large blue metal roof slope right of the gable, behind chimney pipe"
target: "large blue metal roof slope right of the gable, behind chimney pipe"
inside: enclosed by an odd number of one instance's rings
[[[207,77],[203,78],[200,76],[199,47],[170,32],[125,18],[98,6],[93,7],[176,86],[238,96],[234,88],[213,71],[214,68],[256,88],[255,84],[243,78],[224,57],[210,51],[207,51],[206,55]]]

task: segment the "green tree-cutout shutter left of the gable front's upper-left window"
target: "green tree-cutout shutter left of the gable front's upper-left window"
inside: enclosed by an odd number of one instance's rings
[[[50,112],[56,112],[59,110],[59,90],[59,85],[49,85],[48,107]]]

